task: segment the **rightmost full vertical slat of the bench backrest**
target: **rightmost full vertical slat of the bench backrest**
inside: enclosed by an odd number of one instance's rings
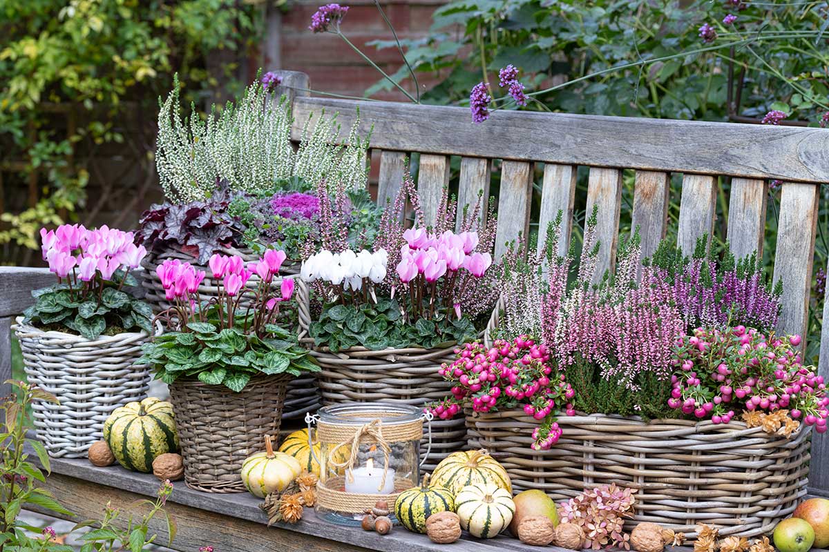
[[[774,281],[783,278],[783,312],[778,331],[802,336],[806,343],[812,262],[817,233],[819,189],[811,184],[784,183],[774,259]]]

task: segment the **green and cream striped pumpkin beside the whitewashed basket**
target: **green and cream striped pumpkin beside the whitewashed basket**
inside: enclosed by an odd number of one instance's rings
[[[104,441],[124,468],[150,473],[153,460],[178,450],[172,405],[154,396],[116,408],[104,421]]]

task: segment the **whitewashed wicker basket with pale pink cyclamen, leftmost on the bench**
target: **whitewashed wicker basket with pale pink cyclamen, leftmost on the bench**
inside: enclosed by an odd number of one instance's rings
[[[149,372],[135,361],[153,312],[130,274],[146,252],[133,233],[106,226],[42,228],[41,242],[57,283],[32,291],[14,329],[28,382],[60,401],[32,405],[39,439],[52,456],[80,458],[113,410],[147,396]]]

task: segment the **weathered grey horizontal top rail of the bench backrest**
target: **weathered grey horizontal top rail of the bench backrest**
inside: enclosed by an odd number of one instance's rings
[[[297,98],[294,116],[339,113],[351,127],[360,109],[361,133],[371,126],[380,149],[479,156],[561,165],[829,181],[829,132],[820,128],[737,125],[728,122],[603,117],[501,110],[473,124],[468,108]],[[295,123],[292,137],[298,139]]]

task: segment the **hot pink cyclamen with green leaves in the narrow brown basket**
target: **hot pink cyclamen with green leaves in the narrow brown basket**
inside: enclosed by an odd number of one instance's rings
[[[201,304],[198,286],[205,272],[187,262],[163,262],[158,277],[175,305],[159,318],[173,331],[145,343],[139,362],[155,367],[166,383],[197,377],[237,392],[259,374],[318,372],[296,335],[276,324],[294,288],[290,278],[275,286],[284,260],[285,253],[274,250],[248,266],[241,257],[213,255],[209,265],[219,293]],[[251,290],[245,284],[254,274],[259,284]]]

